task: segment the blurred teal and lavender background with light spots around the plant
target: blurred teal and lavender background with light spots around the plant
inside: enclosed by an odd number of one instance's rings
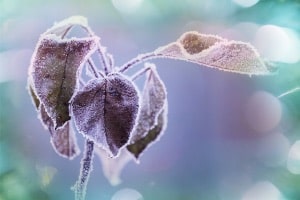
[[[81,155],[54,152],[26,90],[39,35],[72,15],[118,66],[196,30],[250,42],[279,68],[249,77],[153,60],[168,127],[118,186],[95,157],[87,200],[300,200],[300,92],[278,98],[300,84],[299,0],[0,0],[0,200],[74,199]]]

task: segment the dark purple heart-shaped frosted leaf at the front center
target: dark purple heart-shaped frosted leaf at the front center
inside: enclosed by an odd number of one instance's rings
[[[116,156],[128,142],[138,103],[133,83],[116,73],[88,82],[74,97],[72,112],[77,129]]]

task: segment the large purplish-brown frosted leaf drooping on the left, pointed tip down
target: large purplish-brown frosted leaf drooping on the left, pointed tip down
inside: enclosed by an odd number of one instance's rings
[[[76,90],[78,69],[93,53],[97,38],[41,37],[32,56],[29,81],[55,128],[70,120],[69,101]]]

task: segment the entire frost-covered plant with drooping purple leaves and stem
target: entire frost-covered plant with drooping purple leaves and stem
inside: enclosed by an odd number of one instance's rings
[[[67,38],[74,26],[81,27],[86,37]],[[98,55],[102,70],[93,54]],[[84,17],[56,23],[36,45],[28,89],[59,155],[73,159],[79,154],[72,121],[86,140],[79,179],[73,187],[76,200],[85,199],[94,152],[104,162],[105,175],[117,184],[122,167],[130,159],[138,160],[166,128],[167,92],[155,65],[145,63],[132,77],[125,75],[129,68],[154,58],[179,59],[248,75],[273,70],[250,44],[198,32],[186,32],[177,41],[116,67]],[[91,74],[87,82],[82,78],[84,67]],[[144,74],[140,94],[134,81]]]

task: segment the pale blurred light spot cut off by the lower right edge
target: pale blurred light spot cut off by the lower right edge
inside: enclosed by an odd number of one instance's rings
[[[296,141],[290,148],[287,168],[293,174],[300,174],[300,140]]]

